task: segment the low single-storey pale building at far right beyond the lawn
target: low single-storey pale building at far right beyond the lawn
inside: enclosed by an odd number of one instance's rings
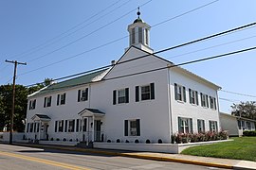
[[[220,112],[221,127],[229,136],[243,136],[245,130],[256,130],[256,120]]]

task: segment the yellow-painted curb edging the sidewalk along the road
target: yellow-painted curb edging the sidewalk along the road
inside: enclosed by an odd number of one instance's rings
[[[211,167],[226,168],[226,169],[234,169],[235,168],[232,165],[222,164],[222,163],[182,160],[182,159],[167,158],[167,157],[156,157],[156,156],[148,156],[148,155],[137,155],[137,154],[133,154],[133,153],[118,153],[118,152],[112,152],[112,151],[93,150],[93,149],[71,147],[71,146],[64,147],[64,146],[59,146],[59,145],[42,145],[42,144],[15,144],[15,145],[30,146],[30,147],[37,147],[37,148],[68,150],[68,151],[78,151],[78,152],[83,152],[83,153],[94,153],[94,154],[103,154],[103,155],[111,155],[111,156],[121,156],[121,157],[128,157],[128,158],[153,160],[153,161],[173,161],[173,162],[195,164],[195,165],[202,165],[202,166],[211,166]]]

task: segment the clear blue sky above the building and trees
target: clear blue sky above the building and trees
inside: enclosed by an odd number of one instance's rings
[[[207,5],[207,6],[205,6]],[[0,0],[0,85],[30,85],[110,64],[129,45],[127,26],[140,18],[156,51],[256,22],[255,0]],[[256,46],[256,27],[159,53],[182,63]],[[220,110],[256,100],[256,50],[182,66],[222,87]],[[231,92],[231,93],[230,93]],[[241,94],[234,94],[241,93]]]

